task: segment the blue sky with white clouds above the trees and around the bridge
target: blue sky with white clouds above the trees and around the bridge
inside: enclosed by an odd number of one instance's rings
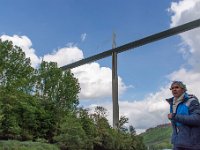
[[[200,0],[0,0],[0,38],[20,46],[31,65],[64,66],[200,18]],[[118,54],[120,116],[137,133],[168,123],[170,84],[200,97],[200,28]],[[112,125],[112,58],[72,69],[79,106],[103,106]]]

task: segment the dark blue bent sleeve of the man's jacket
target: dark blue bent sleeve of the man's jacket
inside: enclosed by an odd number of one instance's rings
[[[189,126],[200,126],[200,105],[198,100],[193,100],[190,103],[189,112],[190,115],[175,114],[172,120]]]

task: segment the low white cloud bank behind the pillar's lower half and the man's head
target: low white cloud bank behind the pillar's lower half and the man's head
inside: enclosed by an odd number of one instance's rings
[[[172,72],[167,76],[169,81],[181,80],[188,89],[188,93],[200,97],[200,73],[187,71],[181,68]],[[159,124],[169,123],[167,114],[169,113],[169,105],[165,101],[166,98],[172,97],[169,90],[170,82],[161,87],[159,91],[150,93],[143,100],[126,100],[119,101],[120,116],[124,115],[129,118],[128,125],[133,125],[137,133],[141,133],[148,128],[155,127]],[[108,120],[112,125],[112,102],[99,103],[98,105],[108,110]],[[95,104],[89,106],[94,109]]]

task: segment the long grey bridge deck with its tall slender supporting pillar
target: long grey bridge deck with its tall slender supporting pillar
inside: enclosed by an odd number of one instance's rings
[[[105,57],[112,56],[112,101],[113,101],[113,128],[117,128],[119,123],[119,104],[118,104],[118,75],[117,75],[117,54],[131,50],[164,38],[192,30],[194,28],[200,27],[200,19],[182,24],[180,26],[170,28],[168,30],[144,37],[142,39],[127,43],[119,47],[113,47],[110,50],[104,51],[102,53],[90,56],[88,58],[79,60],[77,62],[62,66],[62,70],[73,69],[75,67],[91,63],[93,61],[103,59]]]

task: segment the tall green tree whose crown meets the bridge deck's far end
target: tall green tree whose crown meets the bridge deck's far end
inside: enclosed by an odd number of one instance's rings
[[[80,87],[70,71],[62,71],[54,62],[42,61],[36,71],[35,96],[41,100],[45,110],[43,131],[52,141],[61,126],[61,120],[76,110]]]

